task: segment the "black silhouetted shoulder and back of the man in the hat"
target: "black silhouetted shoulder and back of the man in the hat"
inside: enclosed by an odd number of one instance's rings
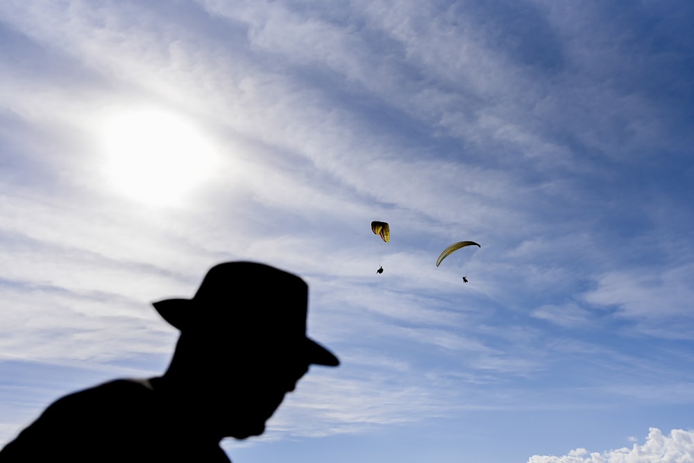
[[[173,412],[146,380],[106,382],[51,404],[0,451],[0,462],[229,461],[218,441],[196,441],[172,426]]]

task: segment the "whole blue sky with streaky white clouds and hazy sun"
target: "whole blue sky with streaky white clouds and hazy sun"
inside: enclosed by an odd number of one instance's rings
[[[161,373],[176,331],[149,303],[258,260],[310,283],[342,365],[225,441],[237,463],[694,457],[693,21],[1,2],[0,445],[62,394]]]

